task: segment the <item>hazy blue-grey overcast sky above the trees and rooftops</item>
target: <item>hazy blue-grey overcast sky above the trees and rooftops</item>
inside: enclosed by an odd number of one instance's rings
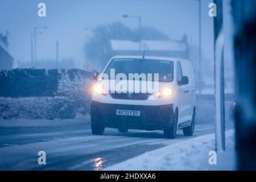
[[[38,17],[40,2],[46,3],[47,17]],[[202,48],[209,61],[213,59],[210,2],[203,0],[201,5]],[[198,8],[196,0],[0,0],[0,32],[10,32],[9,50],[15,60],[30,61],[30,34],[35,26],[48,26],[43,35],[38,35],[38,59],[55,59],[58,40],[60,59],[73,58],[81,67],[85,60],[82,49],[91,35],[90,29],[117,21],[130,28],[138,27],[135,19],[122,18],[123,14],[142,16],[142,26],[158,28],[171,39],[181,39],[185,33],[189,43],[198,45]],[[229,27],[229,22],[226,24]]]

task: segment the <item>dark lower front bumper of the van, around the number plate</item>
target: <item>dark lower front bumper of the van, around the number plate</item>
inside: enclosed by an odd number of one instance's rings
[[[117,110],[139,110],[140,116],[117,115]],[[174,115],[172,104],[145,106],[104,104],[92,101],[90,106],[92,122],[102,122],[105,127],[127,128],[138,130],[163,130],[170,126]]]

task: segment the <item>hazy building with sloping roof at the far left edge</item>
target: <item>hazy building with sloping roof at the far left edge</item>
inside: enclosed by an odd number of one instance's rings
[[[13,69],[13,56],[8,51],[7,35],[0,34],[0,70]]]

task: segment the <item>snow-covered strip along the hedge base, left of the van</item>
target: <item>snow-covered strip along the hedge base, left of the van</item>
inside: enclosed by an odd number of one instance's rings
[[[0,119],[0,127],[49,127],[90,122],[90,115],[76,115],[74,119]]]

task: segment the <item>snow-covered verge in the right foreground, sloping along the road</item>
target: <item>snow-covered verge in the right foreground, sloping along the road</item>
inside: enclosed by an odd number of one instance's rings
[[[218,170],[223,169],[223,163],[234,163],[233,158],[229,161],[220,161],[218,156],[233,154],[234,130],[226,131],[226,152],[217,154],[217,165],[209,165],[209,151],[215,148],[215,134],[204,135],[169,146],[146,152],[124,162],[104,168],[104,170],[134,170],[134,171],[164,171],[164,170]],[[226,154],[225,154],[226,153]],[[220,158],[221,159],[221,158]],[[222,157],[223,159],[223,157]],[[232,160],[232,161],[230,161]],[[218,164],[220,168],[218,168]],[[213,168],[214,166],[214,168]],[[233,170],[233,166],[226,166],[226,170]]]

